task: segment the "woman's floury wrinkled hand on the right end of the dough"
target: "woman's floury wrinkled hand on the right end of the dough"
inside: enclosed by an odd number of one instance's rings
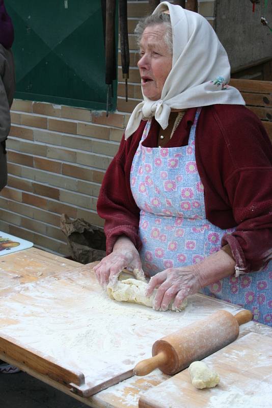
[[[175,308],[179,308],[186,296],[199,291],[202,287],[200,281],[199,270],[195,265],[168,268],[151,277],[146,295],[150,296],[153,290],[158,287],[153,309],[167,310],[169,303],[174,298],[173,305]]]

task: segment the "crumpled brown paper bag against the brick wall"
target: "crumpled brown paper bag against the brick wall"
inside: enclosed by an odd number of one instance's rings
[[[106,237],[101,228],[83,218],[71,220],[66,214],[62,214],[61,230],[66,236],[74,261],[88,264],[106,256]]]

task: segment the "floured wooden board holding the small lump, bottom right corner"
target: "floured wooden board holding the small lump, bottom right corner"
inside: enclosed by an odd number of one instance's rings
[[[139,408],[271,408],[271,338],[250,333],[203,361],[219,373],[217,387],[196,389],[186,369],[142,395]]]

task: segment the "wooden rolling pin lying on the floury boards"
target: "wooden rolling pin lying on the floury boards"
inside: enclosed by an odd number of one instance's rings
[[[232,343],[239,335],[239,326],[252,318],[249,310],[242,310],[235,316],[225,310],[213,313],[157,340],[152,347],[153,357],[138,363],[133,374],[146,375],[155,368],[168,375],[176,374],[193,361],[202,360]]]

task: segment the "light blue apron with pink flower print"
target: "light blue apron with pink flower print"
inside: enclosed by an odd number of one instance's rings
[[[140,208],[139,235],[143,269],[150,276],[170,267],[195,264],[221,248],[221,230],[206,219],[204,187],[197,170],[197,110],[187,146],[145,147],[151,120],[135,153],[131,191]],[[203,288],[202,293],[241,305],[254,320],[272,325],[272,262],[266,270],[234,275]]]

